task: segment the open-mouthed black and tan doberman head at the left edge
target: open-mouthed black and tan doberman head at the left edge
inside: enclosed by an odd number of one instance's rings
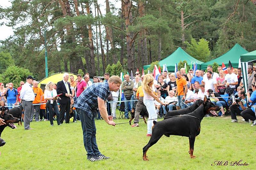
[[[0,137],[5,127],[9,126],[12,129],[17,128],[13,123],[18,123],[20,119],[13,117],[11,114],[7,114],[4,111],[1,111],[0,117],[4,119],[5,125],[0,126]]]

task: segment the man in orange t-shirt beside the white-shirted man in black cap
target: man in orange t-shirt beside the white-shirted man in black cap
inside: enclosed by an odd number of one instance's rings
[[[34,104],[40,104],[44,96],[44,92],[43,90],[38,87],[38,83],[36,81],[33,81],[33,91],[36,95],[35,100],[33,101],[33,106],[31,109],[31,117],[30,117],[30,122],[33,121],[33,117],[34,117],[34,110],[36,110],[35,112],[35,120],[36,122],[39,122],[39,113],[40,113],[40,105],[34,105]]]

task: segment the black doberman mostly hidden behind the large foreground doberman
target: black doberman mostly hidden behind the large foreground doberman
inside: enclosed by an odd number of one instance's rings
[[[187,108],[180,109],[180,110],[168,111],[164,116],[164,120],[169,119],[171,116],[189,114],[189,113],[193,112],[194,110],[196,110],[197,107],[199,107],[201,104],[203,104],[203,100],[196,100],[196,102],[193,105],[191,105],[190,108],[187,107]]]

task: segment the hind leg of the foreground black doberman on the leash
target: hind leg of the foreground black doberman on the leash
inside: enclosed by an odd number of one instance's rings
[[[163,132],[161,130],[157,130],[158,128],[153,128],[152,136],[150,137],[148,144],[143,147],[143,160],[148,160],[147,158],[147,151],[148,149],[156,144],[156,142],[163,136]]]

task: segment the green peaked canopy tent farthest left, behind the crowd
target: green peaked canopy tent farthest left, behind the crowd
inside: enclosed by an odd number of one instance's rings
[[[200,64],[202,64],[203,62],[196,60],[194,57],[190,56],[188,53],[186,53],[186,51],[184,51],[181,47],[177,48],[171,55],[169,55],[168,57],[164,58],[163,60],[161,60],[159,62],[160,66],[163,66],[164,64],[166,64],[167,66],[167,70],[170,72],[174,72],[175,69],[175,63],[179,63],[180,61],[187,61],[188,65],[190,65],[190,63],[196,63],[197,62],[197,68],[200,68]],[[147,70],[150,67],[150,65],[144,65],[144,70]],[[152,71],[152,70],[150,70]]]

